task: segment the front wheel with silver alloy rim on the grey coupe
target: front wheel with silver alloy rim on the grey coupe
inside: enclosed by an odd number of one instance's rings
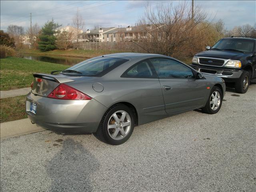
[[[207,114],[218,113],[222,105],[222,100],[223,100],[222,90],[220,90],[220,88],[218,88],[217,86],[213,86],[210,92],[210,96],[208,97],[208,100],[206,102],[206,105],[202,108],[202,112]],[[217,104],[218,104],[218,107],[217,107]]]

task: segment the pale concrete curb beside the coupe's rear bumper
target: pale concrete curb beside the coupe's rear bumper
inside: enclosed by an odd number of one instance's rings
[[[0,124],[0,140],[26,135],[30,133],[36,133],[44,130],[47,129],[42,128],[37,124],[32,124],[28,118],[5,122]]]

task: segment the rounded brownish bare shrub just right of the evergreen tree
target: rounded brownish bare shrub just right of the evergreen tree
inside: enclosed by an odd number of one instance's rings
[[[57,34],[56,47],[58,49],[67,50],[72,45],[72,32],[64,30]]]

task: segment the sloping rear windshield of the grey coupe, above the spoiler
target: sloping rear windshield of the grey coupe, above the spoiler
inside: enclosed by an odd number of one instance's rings
[[[110,57],[96,57],[80,62],[67,70],[76,70],[84,76],[102,76],[128,60]]]

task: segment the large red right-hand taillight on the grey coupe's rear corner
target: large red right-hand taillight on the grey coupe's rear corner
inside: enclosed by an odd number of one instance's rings
[[[92,98],[66,84],[60,84],[48,96],[48,98],[64,100],[91,100]]]

